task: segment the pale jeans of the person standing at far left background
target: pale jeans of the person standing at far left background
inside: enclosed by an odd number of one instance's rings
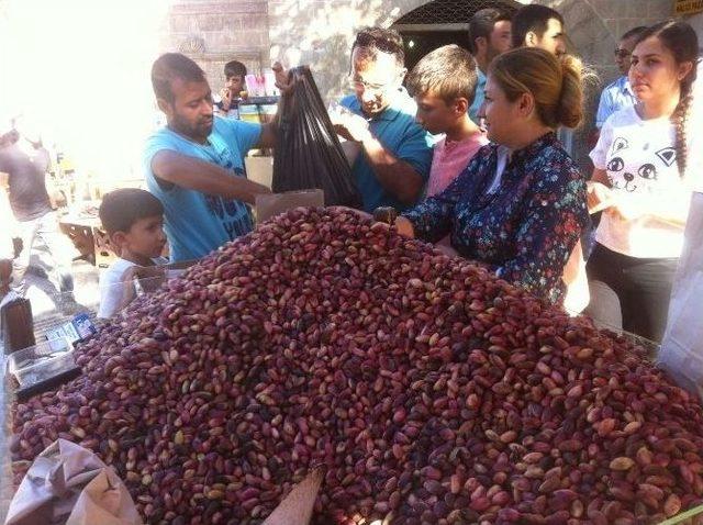
[[[26,269],[30,266],[32,248],[37,241],[41,241],[48,249],[52,258],[58,290],[62,293],[74,291],[70,260],[66,260],[67,257],[63,254],[65,252],[62,249],[63,234],[58,228],[56,213],[49,212],[41,217],[20,222],[18,227],[23,246],[20,255],[12,261],[12,288],[20,293],[24,292],[24,273],[26,273]]]

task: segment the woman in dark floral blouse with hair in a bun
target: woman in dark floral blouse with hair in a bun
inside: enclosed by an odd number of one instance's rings
[[[490,265],[550,303],[560,303],[565,265],[589,222],[585,180],[555,136],[582,119],[581,67],[537,48],[491,65],[483,146],[438,196],[394,220],[427,242],[450,234],[464,257]]]

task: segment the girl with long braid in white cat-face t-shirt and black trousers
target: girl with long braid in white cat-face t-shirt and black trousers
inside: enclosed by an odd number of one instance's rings
[[[591,152],[589,211],[603,214],[589,280],[617,295],[625,331],[657,342],[691,199],[687,120],[696,57],[696,34],[684,22],[644,32],[629,69],[638,103],[611,115]]]

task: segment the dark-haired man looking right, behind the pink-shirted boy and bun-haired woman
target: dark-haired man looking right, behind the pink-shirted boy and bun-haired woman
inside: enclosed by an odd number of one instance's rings
[[[469,21],[469,46],[476,59],[476,72],[479,77],[469,116],[476,124],[481,125],[479,110],[483,105],[486,74],[493,58],[512,46],[510,15],[493,8],[477,11]]]

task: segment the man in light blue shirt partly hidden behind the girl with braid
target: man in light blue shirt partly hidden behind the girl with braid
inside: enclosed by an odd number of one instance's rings
[[[625,108],[635,105],[637,99],[629,87],[627,72],[629,71],[631,55],[637,43],[637,38],[647,27],[639,26],[625,33],[615,48],[615,62],[617,69],[622,75],[613,83],[603,89],[601,101],[598,104],[598,113],[595,114],[595,127],[603,127],[610,115]]]

